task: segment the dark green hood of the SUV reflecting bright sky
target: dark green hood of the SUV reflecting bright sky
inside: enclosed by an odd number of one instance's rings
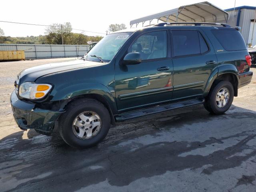
[[[69,60],[62,62],[55,62],[50,64],[44,64],[40,66],[31,67],[23,70],[18,75],[20,82],[30,81],[34,82],[37,78],[48,75],[51,73],[74,70],[78,68],[94,67],[105,63],[84,61],[84,60]]]

